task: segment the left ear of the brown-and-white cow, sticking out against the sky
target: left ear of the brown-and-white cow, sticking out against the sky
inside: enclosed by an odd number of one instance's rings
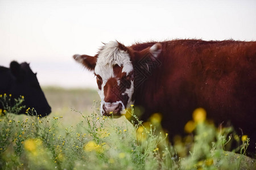
[[[81,63],[82,65],[84,65],[86,67],[86,69],[92,71],[94,70],[95,66],[96,66],[96,62],[97,62],[97,57],[92,57],[92,56],[87,56],[87,55],[79,55],[79,54],[75,54],[73,56],[73,58]]]

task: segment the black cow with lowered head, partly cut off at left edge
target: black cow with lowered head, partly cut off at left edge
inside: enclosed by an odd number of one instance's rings
[[[26,108],[35,108],[42,117],[51,113],[46,97],[39,85],[36,73],[30,69],[26,62],[19,64],[16,61],[10,63],[10,69],[0,66],[0,94],[11,94],[11,98],[24,96],[23,105]],[[3,109],[0,103],[0,109]],[[22,109],[18,114],[26,113]]]

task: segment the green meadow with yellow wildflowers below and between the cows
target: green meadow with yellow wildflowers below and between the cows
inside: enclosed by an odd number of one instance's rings
[[[256,169],[245,155],[249,138],[230,135],[232,127],[216,128],[203,108],[185,125],[188,135],[170,143],[159,113],[142,122],[132,106],[126,117],[101,117],[95,91],[44,92],[52,106],[44,118],[34,108],[27,113],[35,116],[13,114],[23,97],[10,107],[11,95],[0,96],[6,105],[0,110],[1,169]],[[240,154],[224,151],[231,141],[241,142]]]

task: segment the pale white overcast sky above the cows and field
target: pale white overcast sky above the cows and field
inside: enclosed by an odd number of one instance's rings
[[[256,40],[256,1],[0,0],[0,65],[31,63],[42,86],[96,88],[73,54],[101,42]]]

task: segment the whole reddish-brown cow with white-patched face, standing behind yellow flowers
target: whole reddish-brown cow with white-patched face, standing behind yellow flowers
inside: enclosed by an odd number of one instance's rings
[[[163,114],[171,137],[183,133],[203,107],[216,124],[231,122],[256,142],[256,42],[172,40],[125,46],[104,44],[96,56],[74,55],[94,71],[101,114],[144,108],[142,120]],[[238,130],[241,133],[241,130]]]

